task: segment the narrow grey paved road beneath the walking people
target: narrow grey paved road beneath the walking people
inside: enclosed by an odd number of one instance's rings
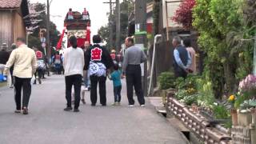
[[[90,106],[89,93],[80,113],[64,112],[63,76],[51,76],[32,87],[30,114],[14,114],[14,92],[0,88],[1,144],[183,144],[182,136],[154,111],[129,108],[123,82],[122,106],[110,106],[113,90],[107,82],[108,106]]]

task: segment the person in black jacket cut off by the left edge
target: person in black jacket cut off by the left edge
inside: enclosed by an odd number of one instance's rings
[[[6,49],[7,49],[7,44],[2,43],[2,49],[0,51],[0,74],[3,74],[3,70],[5,69],[6,62],[10,57],[10,53],[8,53]]]

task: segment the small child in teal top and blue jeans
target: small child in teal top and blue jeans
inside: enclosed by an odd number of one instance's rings
[[[120,106],[122,90],[121,74],[122,73],[119,70],[118,63],[114,63],[114,72],[111,73],[110,77],[110,80],[113,81],[114,85],[114,103],[112,106]]]

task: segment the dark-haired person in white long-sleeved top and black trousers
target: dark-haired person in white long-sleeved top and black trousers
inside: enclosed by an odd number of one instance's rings
[[[69,39],[70,48],[64,51],[64,69],[66,82],[66,108],[65,111],[72,110],[71,93],[74,86],[74,112],[79,112],[82,75],[84,68],[84,52],[78,47],[77,38],[71,36]]]

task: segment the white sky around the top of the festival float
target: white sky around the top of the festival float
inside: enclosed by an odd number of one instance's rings
[[[98,33],[98,29],[101,26],[105,26],[108,22],[106,13],[110,11],[110,5],[104,4],[103,2],[108,2],[109,0],[52,0],[50,4],[50,20],[53,21],[57,29],[62,33],[64,18],[69,8],[74,11],[82,12],[83,8],[90,13],[91,20],[91,31],[92,35]],[[30,2],[40,2],[46,3],[46,0],[30,0]],[[54,15],[61,15],[62,18],[53,17]]]

